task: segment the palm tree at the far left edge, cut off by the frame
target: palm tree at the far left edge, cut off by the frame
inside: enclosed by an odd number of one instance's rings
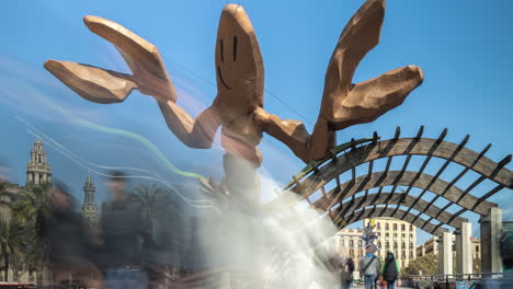
[[[3,256],[4,281],[8,281],[11,261],[14,257],[23,256],[32,241],[32,230],[23,226],[20,220],[12,219],[8,223],[5,220],[0,219],[0,253]]]

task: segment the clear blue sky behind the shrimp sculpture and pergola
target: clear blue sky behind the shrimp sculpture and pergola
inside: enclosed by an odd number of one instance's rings
[[[251,18],[261,46],[265,85],[272,93],[265,95],[264,107],[269,112],[282,118],[304,120],[311,131],[332,49],[345,23],[363,2],[239,2]],[[24,183],[29,151],[35,139],[21,118],[91,162],[151,170],[172,184],[194,183],[169,173],[138,142],[80,126],[56,106],[94,124],[129,129],[155,143],[178,167],[219,180],[223,152],[183,146],[167,129],[150,97],[134,93],[123,104],[88,103],[45,71],[43,63],[55,58],[127,71],[112,45],[83,25],[84,15],[103,16],[159,48],[179,89],[179,103],[197,114],[216,94],[212,85],[215,37],[219,13],[226,3],[220,0],[2,3],[0,155],[9,160],[13,180]],[[354,82],[397,67],[417,65],[424,71],[424,83],[400,107],[375,123],[338,132],[339,142],[368,137],[373,131],[389,138],[396,126],[401,126],[403,136],[412,136],[424,125],[428,137],[436,137],[443,128],[448,128],[446,139],[454,142],[469,134],[468,147],[477,151],[491,142],[487,157],[495,161],[511,153],[512,8],[511,1],[388,1],[381,42],[361,62]],[[272,176],[277,187],[304,166],[284,144],[269,136],[260,148],[264,157],[261,170],[264,180]],[[68,183],[82,199],[81,184],[88,170],[52,146],[46,150],[54,175]],[[419,162],[413,161],[412,165]],[[440,162],[430,165],[428,172],[436,171],[436,165],[440,167]],[[458,172],[454,167],[447,177]],[[102,178],[94,177],[98,199],[102,200],[105,198]],[[463,180],[461,186],[471,183],[471,177]],[[485,194],[486,188],[486,185],[477,187],[476,194]],[[508,210],[512,205],[509,195],[511,190],[503,190],[491,200],[499,203],[505,209],[505,217],[513,220],[513,212]],[[475,222],[477,233],[477,217],[470,213],[465,217]],[[420,240],[425,238],[426,234],[420,235]]]

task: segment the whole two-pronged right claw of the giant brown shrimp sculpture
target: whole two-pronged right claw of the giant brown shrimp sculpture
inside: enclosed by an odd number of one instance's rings
[[[326,73],[320,113],[334,130],[373,122],[400,105],[422,83],[422,71],[415,66],[352,83],[360,61],[379,43],[384,16],[385,0],[367,0],[339,38]]]

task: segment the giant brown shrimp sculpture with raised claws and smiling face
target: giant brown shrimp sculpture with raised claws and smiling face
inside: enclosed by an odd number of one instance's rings
[[[83,99],[119,103],[133,90],[152,96],[173,134],[187,147],[208,149],[221,127],[224,184],[240,200],[258,200],[262,163],[256,146],[266,132],[309,163],[326,158],[335,131],[369,123],[400,105],[422,83],[419,67],[407,66],[352,83],[363,57],[379,42],[385,0],[367,0],[349,21],[328,65],[322,103],[310,135],[298,120],[281,119],[263,107],[264,66],[254,28],[244,9],[227,4],[221,12],[215,49],[217,96],[196,118],[176,105],[176,91],[152,44],[98,16],[86,16],[93,33],[116,46],[133,74],[77,62],[48,60],[45,68]],[[284,51],[286,53],[286,51]]]

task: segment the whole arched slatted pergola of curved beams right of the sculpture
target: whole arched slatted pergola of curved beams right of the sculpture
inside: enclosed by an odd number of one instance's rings
[[[340,229],[357,221],[358,215],[355,213],[358,211],[362,216],[386,216],[403,219],[426,232],[438,235],[446,231],[442,226],[457,228],[466,221],[459,217],[466,211],[478,213],[481,217],[487,216],[491,208],[498,207],[497,204],[487,199],[503,188],[513,188],[513,172],[505,167],[512,160],[511,154],[494,162],[485,157],[491,144],[488,144],[482,151],[476,152],[465,147],[469,139],[468,135],[459,143],[453,143],[444,141],[447,129],[444,129],[434,139],[422,138],[423,131],[424,127],[421,126],[415,137],[400,138],[401,131],[398,127],[394,138],[388,140],[381,141],[376,132],[369,139],[352,139],[351,142],[333,149],[331,158],[312,162],[298,175],[293,176],[293,182],[284,188],[284,192],[292,192],[300,196],[299,200],[306,199],[311,206],[329,211],[328,216]],[[391,161],[399,155],[406,155],[402,169],[391,171]],[[407,171],[413,155],[423,155],[425,159],[419,170]],[[425,174],[424,170],[433,158],[443,159],[445,162],[434,175]],[[385,170],[373,172],[374,162],[379,159],[387,160]],[[365,163],[368,163],[367,174],[356,176],[356,166]],[[451,163],[459,164],[464,170],[453,180],[444,181],[441,175]],[[341,183],[340,175],[350,171],[350,181]],[[466,189],[457,187],[456,182],[469,171],[477,173],[479,177]],[[493,182],[494,187],[480,197],[472,195],[471,190],[486,180]],[[333,181],[337,186],[333,189],[326,189],[326,186]],[[392,186],[391,192],[383,193],[386,186]],[[396,189],[399,186],[407,187],[407,189],[397,193]],[[409,194],[413,187],[422,190],[420,195],[411,196]],[[369,195],[371,188],[378,188],[378,192]],[[316,192],[320,192],[321,197],[312,201],[310,196]],[[355,195],[362,192],[365,192],[365,195],[355,199]],[[428,192],[435,195],[430,201],[423,199]],[[282,197],[267,204],[266,209],[271,211],[283,210],[297,204],[297,198],[287,198],[286,196],[287,194],[282,194]],[[440,198],[448,201],[443,208],[434,205]],[[347,199],[351,200],[345,201]],[[384,205],[384,207],[377,207],[379,205]],[[396,205],[396,207],[391,208],[390,205]],[[461,209],[456,213],[447,212],[446,209],[453,205],[457,205]],[[368,209],[368,206],[374,206],[374,209]],[[400,207],[407,209],[402,210]],[[412,209],[418,212],[413,213]],[[346,215],[349,211],[353,212]],[[375,215],[376,212],[379,215]],[[422,219],[422,215],[426,215],[429,219]],[[440,223],[434,224],[433,220],[437,220]]]

